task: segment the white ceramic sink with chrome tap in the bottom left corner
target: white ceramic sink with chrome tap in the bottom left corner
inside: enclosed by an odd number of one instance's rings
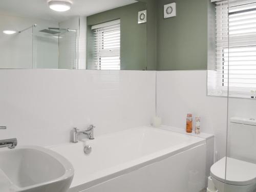
[[[0,191],[65,192],[74,168],[61,155],[38,146],[0,150]]]

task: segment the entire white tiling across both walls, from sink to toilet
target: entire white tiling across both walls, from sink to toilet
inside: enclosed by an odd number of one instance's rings
[[[156,78],[157,74],[157,78]],[[19,144],[68,142],[73,126],[94,123],[98,135],[149,124],[183,127],[188,112],[216,136],[225,155],[227,98],[206,96],[206,71],[0,70],[0,139]],[[255,118],[256,102],[229,99],[229,117]]]

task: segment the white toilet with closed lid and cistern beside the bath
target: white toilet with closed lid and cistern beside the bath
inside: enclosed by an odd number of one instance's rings
[[[256,120],[231,118],[228,135],[228,157],[211,166],[212,181],[219,192],[254,192]]]

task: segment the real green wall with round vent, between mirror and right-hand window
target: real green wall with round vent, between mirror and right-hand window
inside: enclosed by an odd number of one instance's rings
[[[163,18],[163,6],[176,2],[177,16]],[[157,70],[207,70],[209,0],[159,0]]]

